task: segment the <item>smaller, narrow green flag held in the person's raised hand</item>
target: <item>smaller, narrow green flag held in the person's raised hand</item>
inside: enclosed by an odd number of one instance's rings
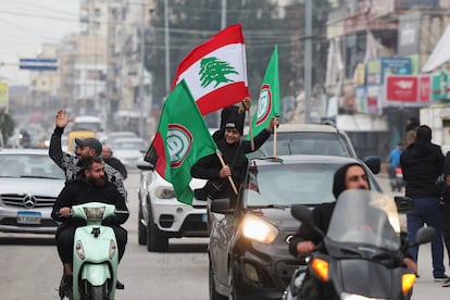
[[[257,112],[251,121],[253,137],[268,126],[273,116],[279,116],[279,110],[278,47],[275,46],[261,85]]]

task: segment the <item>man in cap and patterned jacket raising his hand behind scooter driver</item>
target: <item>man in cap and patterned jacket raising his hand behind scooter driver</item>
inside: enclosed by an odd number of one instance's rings
[[[64,152],[61,147],[61,136],[65,126],[72,121],[66,116],[65,110],[59,110],[55,116],[55,128],[50,138],[49,157],[65,173],[66,183],[78,179],[83,174],[83,159],[100,157],[101,142],[96,138],[75,139],[75,155]],[[127,192],[121,172],[109,164],[104,164],[104,174],[109,182],[114,184],[118,192],[126,199]]]

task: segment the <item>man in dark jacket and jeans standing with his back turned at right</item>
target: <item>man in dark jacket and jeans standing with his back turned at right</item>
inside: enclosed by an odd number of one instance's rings
[[[440,212],[440,190],[436,179],[442,174],[443,154],[439,146],[432,142],[432,128],[418,126],[415,141],[400,155],[403,171],[405,196],[414,201],[414,209],[407,213],[408,240],[414,241],[418,228],[424,224],[436,229],[432,242],[433,276],[436,282],[446,280],[443,267],[442,215]],[[410,249],[417,261],[418,246]]]

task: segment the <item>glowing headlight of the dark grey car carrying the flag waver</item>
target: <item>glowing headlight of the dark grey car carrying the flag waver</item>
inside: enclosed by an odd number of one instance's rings
[[[271,243],[278,235],[278,229],[264,220],[246,215],[242,221],[243,236],[262,243]]]

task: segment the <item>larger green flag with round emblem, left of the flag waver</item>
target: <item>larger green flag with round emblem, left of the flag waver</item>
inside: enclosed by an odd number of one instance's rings
[[[196,101],[182,80],[164,102],[158,133],[146,157],[155,159],[158,174],[174,186],[178,201],[192,204],[190,168],[216,149]]]

